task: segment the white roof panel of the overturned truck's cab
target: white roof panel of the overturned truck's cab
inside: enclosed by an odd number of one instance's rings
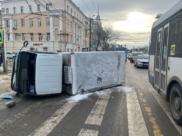
[[[62,92],[62,55],[37,54],[35,89],[37,95]]]

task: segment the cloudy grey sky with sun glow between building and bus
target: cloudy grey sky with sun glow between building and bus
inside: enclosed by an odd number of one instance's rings
[[[98,5],[103,27],[112,26],[120,33],[119,44],[149,44],[152,23],[179,0],[72,0],[89,16],[97,15]],[[93,4],[94,3],[94,4]],[[95,5],[95,6],[94,6]],[[97,10],[96,10],[97,9]]]

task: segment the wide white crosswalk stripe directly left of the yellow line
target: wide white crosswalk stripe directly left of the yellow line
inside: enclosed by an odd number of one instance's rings
[[[135,91],[126,95],[129,136],[149,136]]]

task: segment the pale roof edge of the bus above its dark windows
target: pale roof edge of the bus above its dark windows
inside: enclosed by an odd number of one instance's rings
[[[153,23],[152,28],[155,28],[157,25],[167,20],[169,17],[177,13],[182,9],[182,0],[176,3],[171,9],[169,9],[165,14],[163,14],[158,20]]]

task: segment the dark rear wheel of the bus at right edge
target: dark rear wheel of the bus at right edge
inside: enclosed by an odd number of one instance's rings
[[[169,103],[174,121],[182,126],[182,92],[178,84],[172,86]]]

